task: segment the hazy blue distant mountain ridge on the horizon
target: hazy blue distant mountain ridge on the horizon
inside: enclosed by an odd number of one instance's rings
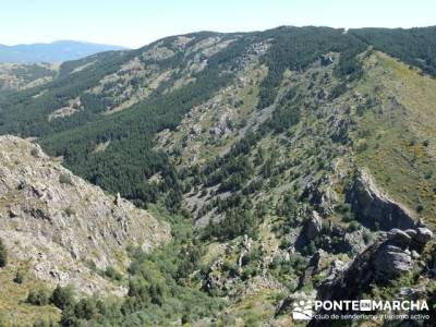
[[[16,46],[0,45],[0,62],[61,62],[113,50],[126,50],[126,48],[75,40],[59,40],[50,44]]]

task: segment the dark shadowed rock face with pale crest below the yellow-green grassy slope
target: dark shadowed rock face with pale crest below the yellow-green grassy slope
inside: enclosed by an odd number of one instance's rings
[[[412,214],[383,193],[365,170],[358,171],[348,191],[347,201],[351,203],[361,223],[370,228],[408,229],[415,225]]]

